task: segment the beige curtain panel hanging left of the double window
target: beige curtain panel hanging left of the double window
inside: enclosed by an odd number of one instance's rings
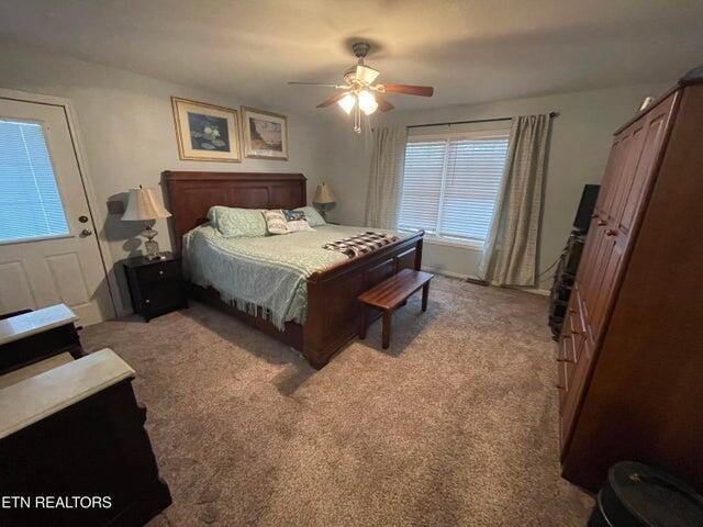
[[[366,195],[366,225],[395,228],[405,162],[408,128],[377,127]]]

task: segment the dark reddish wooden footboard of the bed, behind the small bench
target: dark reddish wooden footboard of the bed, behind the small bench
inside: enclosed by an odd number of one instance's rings
[[[341,262],[308,279],[308,317],[302,354],[315,368],[325,366],[358,335],[361,307],[356,300],[401,269],[420,270],[423,233],[395,242],[359,258]]]

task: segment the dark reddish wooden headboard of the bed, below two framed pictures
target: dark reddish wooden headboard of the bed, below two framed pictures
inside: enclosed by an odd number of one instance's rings
[[[305,206],[302,173],[164,172],[172,214],[174,253],[180,253],[183,234],[208,221],[213,205],[241,209],[297,209]]]

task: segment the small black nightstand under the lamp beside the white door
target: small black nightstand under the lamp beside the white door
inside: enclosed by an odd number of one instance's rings
[[[188,307],[186,287],[180,270],[180,257],[161,253],[164,259],[144,256],[122,262],[127,277],[134,312],[149,322],[155,316]]]

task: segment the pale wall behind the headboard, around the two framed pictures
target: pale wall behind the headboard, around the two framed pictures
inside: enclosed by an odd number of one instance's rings
[[[308,178],[309,200],[314,195],[322,173],[321,156],[325,148],[320,145],[324,133],[309,117],[292,115],[282,108],[265,108],[288,116],[288,161],[182,161],[178,157],[171,96],[237,110],[241,104],[256,105],[255,102],[178,86],[10,42],[0,41],[0,88],[71,100],[78,120],[80,143],[87,157],[88,173],[99,202],[99,210],[93,211],[93,220],[99,228],[99,236],[109,240],[115,266],[133,251],[135,236],[142,227],[132,222],[121,222],[119,215],[108,214],[107,202],[122,198],[127,189],[138,184],[158,186],[164,170],[302,172]],[[236,82],[237,79],[232,79],[233,87],[236,87]],[[170,248],[166,221],[159,221],[156,228],[161,233],[157,238],[160,247]],[[121,282],[118,309],[122,314],[131,307],[121,271],[116,274]]]

